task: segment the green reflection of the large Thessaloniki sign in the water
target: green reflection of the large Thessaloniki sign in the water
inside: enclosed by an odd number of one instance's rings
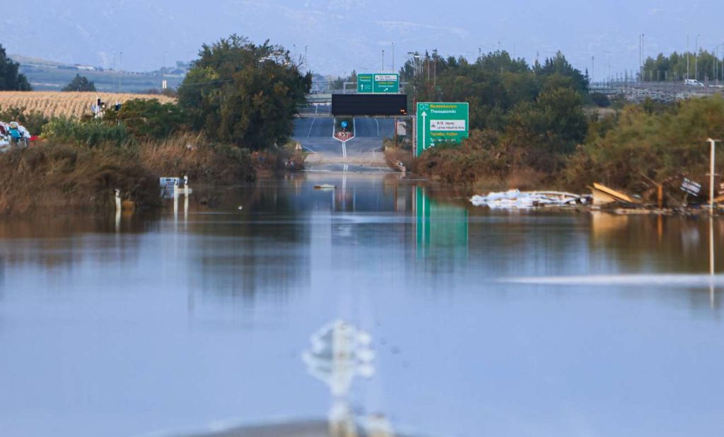
[[[468,258],[468,210],[429,198],[415,187],[417,253],[421,258]]]

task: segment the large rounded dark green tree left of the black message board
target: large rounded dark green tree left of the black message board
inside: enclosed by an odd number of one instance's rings
[[[304,103],[311,80],[284,48],[231,35],[202,46],[178,90],[179,104],[193,129],[264,149],[291,136],[297,105]]]

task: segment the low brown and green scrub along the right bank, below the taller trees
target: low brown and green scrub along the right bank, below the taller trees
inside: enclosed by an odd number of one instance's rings
[[[565,111],[547,123],[555,124],[559,117],[581,127],[581,114],[566,116]],[[707,190],[706,140],[724,138],[724,98],[697,98],[669,106],[629,105],[615,116],[588,119],[585,137],[582,130],[566,137],[563,130],[541,128],[545,123],[539,123],[540,119],[539,115],[521,119],[521,123],[539,126],[527,132],[473,130],[461,145],[426,150],[415,169],[432,179],[468,186],[585,191],[592,182],[601,182],[644,194],[654,187],[652,181],[675,179],[678,183],[677,178],[686,175]],[[717,168],[722,165],[724,153],[719,153]],[[670,190],[675,190],[674,185],[669,184]]]

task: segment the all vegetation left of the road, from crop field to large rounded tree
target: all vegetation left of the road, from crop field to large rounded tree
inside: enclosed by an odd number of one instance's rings
[[[153,207],[161,176],[235,184],[258,171],[300,169],[303,156],[287,144],[310,87],[311,75],[284,48],[231,35],[201,48],[177,99],[0,94],[0,120],[40,135],[27,149],[0,153],[0,213],[102,210],[114,205],[114,189],[140,208]],[[107,103],[102,116],[90,112],[96,97]]]

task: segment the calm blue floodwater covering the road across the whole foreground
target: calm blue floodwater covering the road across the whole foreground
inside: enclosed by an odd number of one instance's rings
[[[0,436],[724,435],[724,219],[414,184],[1,222]]]

